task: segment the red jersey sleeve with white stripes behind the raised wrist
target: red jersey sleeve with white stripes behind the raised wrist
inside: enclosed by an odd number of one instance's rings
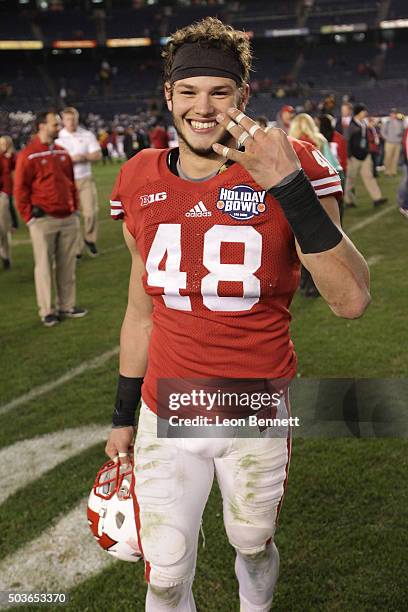
[[[317,197],[334,196],[341,200],[343,190],[340,177],[324,155],[308,142],[293,139],[292,146]]]

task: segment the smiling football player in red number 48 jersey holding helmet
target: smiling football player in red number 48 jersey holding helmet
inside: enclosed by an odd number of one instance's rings
[[[164,60],[179,147],[136,155],[112,193],[132,269],[106,453],[128,463],[141,399],[135,509],[148,612],[196,610],[197,541],[214,475],[236,551],[241,612],[267,612],[290,439],[159,437],[158,386],[292,378],[289,305],[300,262],[346,318],[369,304],[369,273],[340,227],[336,171],[313,145],[264,131],[244,114],[246,35],[206,18],[172,35]]]

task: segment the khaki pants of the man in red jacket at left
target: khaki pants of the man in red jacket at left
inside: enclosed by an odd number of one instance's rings
[[[46,215],[29,225],[34,253],[34,280],[40,317],[54,311],[52,285],[55,283],[57,310],[75,306],[75,266],[79,217],[58,219]],[[55,270],[55,276],[54,276]],[[54,278],[53,278],[54,277]]]

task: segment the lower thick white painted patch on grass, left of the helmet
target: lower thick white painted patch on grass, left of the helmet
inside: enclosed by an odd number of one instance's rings
[[[111,563],[112,557],[92,536],[82,500],[38,538],[0,561],[0,590],[69,592]]]

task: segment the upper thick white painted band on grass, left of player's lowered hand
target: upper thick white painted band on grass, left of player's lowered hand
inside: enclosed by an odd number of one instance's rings
[[[18,489],[89,446],[103,442],[108,425],[86,425],[16,442],[0,450],[0,504]],[[10,477],[10,461],[13,477]]]

